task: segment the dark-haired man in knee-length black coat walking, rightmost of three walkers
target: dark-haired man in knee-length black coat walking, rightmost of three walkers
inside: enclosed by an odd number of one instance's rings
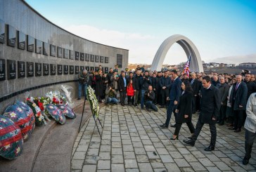
[[[203,77],[203,87],[201,93],[201,111],[196,124],[195,133],[190,140],[183,140],[184,143],[194,146],[198,138],[198,135],[203,128],[204,124],[209,124],[211,141],[210,146],[205,148],[205,151],[215,150],[215,143],[217,138],[216,121],[221,106],[221,100],[219,95],[219,89],[211,84],[209,76]]]

